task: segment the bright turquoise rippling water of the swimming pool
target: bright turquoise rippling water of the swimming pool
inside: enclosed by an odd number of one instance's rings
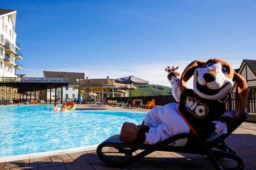
[[[0,156],[64,150],[99,144],[119,134],[123,122],[145,114],[74,110],[51,113],[51,105],[0,106]]]

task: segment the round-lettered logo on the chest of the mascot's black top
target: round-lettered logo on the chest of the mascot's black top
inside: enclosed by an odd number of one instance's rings
[[[207,105],[201,103],[198,99],[187,97],[185,107],[196,118],[204,118],[209,113]]]

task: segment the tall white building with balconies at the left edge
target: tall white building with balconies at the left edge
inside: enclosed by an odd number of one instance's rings
[[[22,59],[20,46],[16,42],[16,11],[0,9],[0,78],[18,77],[17,69],[22,69],[18,60]],[[16,91],[0,86],[0,100],[15,99]]]

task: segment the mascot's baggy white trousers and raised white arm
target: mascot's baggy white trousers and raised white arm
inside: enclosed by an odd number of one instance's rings
[[[177,102],[180,100],[180,77],[172,77],[172,95]],[[169,103],[163,107],[154,107],[144,118],[144,125],[150,130],[146,134],[145,144],[156,144],[171,136],[181,133],[188,133],[189,126],[179,115],[178,103]],[[172,146],[184,146],[187,139],[179,139],[171,143]]]

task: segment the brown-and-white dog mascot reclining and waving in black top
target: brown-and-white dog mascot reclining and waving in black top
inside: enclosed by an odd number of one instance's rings
[[[123,123],[121,140],[127,143],[156,144],[171,136],[192,131],[207,140],[215,130],[227,133],[227,126],[240,118],[245,110],[248,86],[245,79],[234,72],[232,65],[222,59],[195,60],[184,72],[178,67],[167,67],[172,95],[177,103],[154,107],[142,125]],[[193,90],[186,87],[193,76]],[[224,98],[236,82],[236,110],[227,111]],[[179,139],[172,146],[184,146],[187,139]]]

